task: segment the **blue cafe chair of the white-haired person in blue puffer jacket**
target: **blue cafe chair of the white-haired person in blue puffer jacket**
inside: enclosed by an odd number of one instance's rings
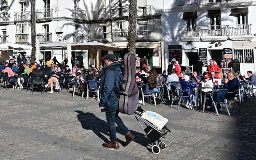
[[[193,108],[193,110],[194,110],[193,101],[192,101],[192,99],[191,99],[191,95],[190,95],[190,92],[189,92],[189,91],[183,91],[183,90],[180,89],[180,87],[177,87],[177,86],[175,86],[175,85],[171,85],[171,89],[172,89],[172,91],[175,91],[175,92],[174,92],[174,97],[172,98],[172,104],[173,104],[174,99],[179,100],[179,105],[178,105],[177,110],[179,110],[179,107],[180,107],[180,104],[181,104],[181,100],[183,99],[183,103],[184,103],[184,105],[185,105],[185,103],[186,103],[185,100],[188,99],[188,98],[190,99],[192,108]],[[185,95],[185,96],[184,96],[184,95],[183,95],[184,92],[187,92],[188,95]],[[171,104],[171,107],[172,107],[172,104]],[[174,108],[174,107],[173,107],[173,108]]]

